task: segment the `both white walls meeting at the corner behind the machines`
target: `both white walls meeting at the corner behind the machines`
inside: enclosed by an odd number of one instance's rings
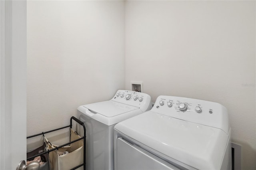
[[[153,101],[227,107],[243,169],[256,169],[255,24],[255,1],[28,1],[28,135],[143,81]]]

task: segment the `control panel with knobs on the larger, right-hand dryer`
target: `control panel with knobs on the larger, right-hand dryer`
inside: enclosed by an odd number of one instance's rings
[[[159,96],[152,112],[184,121],[220,128],[228,134],[227,109],[219,103],[174,96]]]

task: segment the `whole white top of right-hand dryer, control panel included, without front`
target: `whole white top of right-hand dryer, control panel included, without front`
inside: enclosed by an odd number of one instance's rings
[[[164,104],[160,101],[164,101]],[[168,103],[169,101],[172,105]],[[177,101],[179,101],[178,105]],[[188,105],[187,109],[184,109],[184,105],[179,107],[183,102]],[[228,130],[218,127],[219,124],[206,124],[218,121],[208,116],[215,114],[216,117],[222,117],[220,115],[225,110],[222,107],[220,109],[219,104],[210,107],[211,102],[208,103],[209,105],[204,105],[206,102],[204,101],[200,103],[202,104],[200,105],[201,111],[197,108],[197,112],[193,108],[198,106],[197,102],[198,100],[194,99],[160,96],[156,99],[151,111],[122,121],[114,128],[164,154],[167,156],[166,159],[169,157],[196,169],[220,169],[230,135],[230,127],[228,122],[223,122],[228,125]],[[166,111],[166,109],[170,110]],[[209,113],[209,111],[212,112]],[[201,118],[196,117],[198,115],[194,118],[193,114],[198,114]],[[208,115],[203,116],[204,114]],[[224,120],[227,121],[227,119]]]

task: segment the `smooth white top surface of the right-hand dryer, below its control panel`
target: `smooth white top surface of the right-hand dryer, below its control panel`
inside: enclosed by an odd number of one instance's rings
[[[220,169],[228,135],[213,127],[147,111],[118,123],[115,129],[196,169]]]

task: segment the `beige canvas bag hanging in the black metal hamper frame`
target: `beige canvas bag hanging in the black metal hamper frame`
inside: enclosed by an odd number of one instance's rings
[[[71,129],[70,131],[70,141],[81,138],[77,132],[74,132],[74,130]],[[57,145],[51,144],[45,136],[44,140],[48,150],[58,147]],[[70,144],[70,146],[64,146],[49,152],[50,170],[70,170],[84,163],[83,144],[83,140],[78,140],[77,142]],[[65,151],[68,151],[68,154],[63,154]],[[77,170],[83,170],[83,166],[77,168]]]

